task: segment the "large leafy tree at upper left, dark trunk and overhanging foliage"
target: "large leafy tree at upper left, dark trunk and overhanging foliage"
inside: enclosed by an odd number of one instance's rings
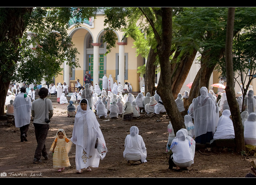
[[[0,8],[0,115],[10,82],[48,82],[60,74],[61,64],[78,67],[67,34],[69,21],[75,26],[95,17],[97,8]],[[30,31],[30,38],[26,31]],[[31,48],[33,46],[33,49]],[[17,72],[16,72],[17,71]]]

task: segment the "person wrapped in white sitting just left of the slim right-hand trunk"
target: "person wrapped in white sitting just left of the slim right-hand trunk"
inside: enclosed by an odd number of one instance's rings
[[[219,119],[216,132],[214,133],[213,139],[234,139],[235,132],[233,122],[230,119],[230,110],[222,112],[222,116]]]

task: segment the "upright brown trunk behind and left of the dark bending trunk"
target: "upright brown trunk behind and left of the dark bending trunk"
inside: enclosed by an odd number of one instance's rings
[[[155,53],[152,47],[148,53],[147,64],[146,64],[146,73],[145,73],[145,93],[149,92],[153,96],[153,87],[155,86],[155,74],[156,66],[154,65],[156,61],[157,53]]]

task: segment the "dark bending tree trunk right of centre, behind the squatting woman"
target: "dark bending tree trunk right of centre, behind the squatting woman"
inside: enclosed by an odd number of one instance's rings
[[[172,68],[170,64],[170,51],[172,45],[172,8],[161,8],[162,12],[162,37],[158,42],[157,52],[161,67],[159,83],[157,86],[157,93],[163,100],[166,113],[168,114],[172,123],[174,133],[181,129],[186,128],[184,119],[182,118],[175,99],[172,93]],[[168,91],[166,91],[166,89]]]

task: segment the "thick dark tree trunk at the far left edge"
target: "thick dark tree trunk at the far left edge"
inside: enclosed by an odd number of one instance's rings
[[[23,36],[23,32],[26,28],[27,22],[24,21],[24,16],[32,12],[33,8],[2,8],[2,25],[0,30],[0,43],[2,46],[6,46],[6,53],[0,53],[1,67],[5,70],[0,74],[0,115],[4,115],[4,104],[7,94],[7,90],[10,84],[10,79],[15,72],[15,64],[18,61],[18,47],[20,47],[20,39]],[[9,51],[9,52],[8,52]],[[12,54],[10,54],[12,52]],[[18,79],[15,79],[18,81]]]

